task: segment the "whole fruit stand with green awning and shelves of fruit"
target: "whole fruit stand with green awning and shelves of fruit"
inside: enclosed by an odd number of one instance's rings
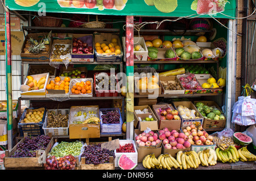
[[[255,155],[247,149],[252,142],[249,136],[237,136],[234,140],[239,144],[221,143],[215,150],[217,143],[212,134],[231,127],[235,77],[234,32],[214,19],[227,20],[225,24],[233,28],[234,20],[228,16],[235,16],[235,1],[225,3],[226,10],[223,6],[203,9],[203,0],[179,5],[171,0],[41,2],[47,4],[47,14],[88,14],[88,22],[65,27],[64,22],[63,26],[44,26],[36,25],[34,20],[34,26],[23,27],[26,39],[20,53],[22,86],[18,105],[20,109],[21,101],[28,100],[30,107],[20,110],[17,117],[22,133],[19,139],[26,133],[33,141],[24,137],[13,149],[8,139],[3,159],[6,169],[16,167],[9,163],[11,159],[28,157],[15,154],[16,149],[28,146],[31,157],[39,157],[39,148],[33,145],[39,136],[48,134],[44,145],[47,149],[40,148],[46,150],[40,157],[44,164],[37,165],[46,170],[126,170],[138,164],[144,169],[197,169],[200,165],[215,166],[217,161],[255,161]],[[13,10],[36,12],[37,3],[6,2],[10,136],[9,15]],[[225,14],[219,13],[223,11]],[[96,15],[96,21],[90,22],[89,15]],[[99,22],[101,15],[107,16],[102,21],[112,21]],[[43,23],[43,16],[35,16],[39,18]],[[120,20],[118,28],[105,27]],[[48,69],[35,71],[42,65],[49,65]],[[102,85],[107,89],[102,90]],[[28,141],[26,146],[24,141]]]

